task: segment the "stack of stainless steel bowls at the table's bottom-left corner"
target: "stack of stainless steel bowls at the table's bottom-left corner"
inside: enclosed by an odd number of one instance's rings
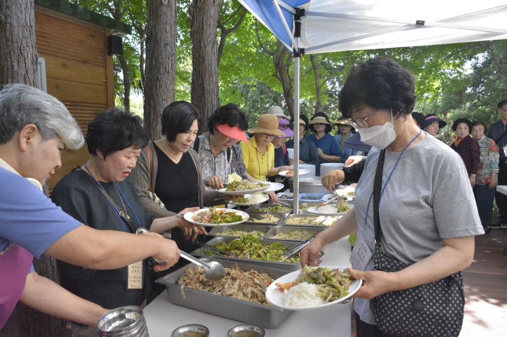
[[[142,309],[125,306],[104,314],[97,322],[97,332],[101,336],[145,336],[148,335]]]

